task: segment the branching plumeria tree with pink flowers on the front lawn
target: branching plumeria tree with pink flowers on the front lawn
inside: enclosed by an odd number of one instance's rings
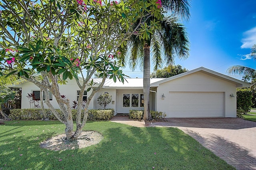
[[[45,103],[59,121],[66,125],[66,140],[76,140],[82,132],[88,106],[102,88],[106,77],[124,82],[116,59],[119,46],[131,35],[142,36],[145,21],[162,18],[157,1],[144,0],[0,0],[1,71],[10,71],[30,81],[45,92]],[[135,21],[136,26],[134,26]],[[151,28],[148,28],[151,29]],[[92,75],[100,72],[102,81],[95,85]],[[40,73],[41,79],[33,76]],[[78,78],[78,74],[81,78]],[[75,79],[80,93],[76,130],[70,100],[61,97],[60,84]],[[54,95],[62,114],[50,103]],[[84,91],[90,91],[82,114]]]

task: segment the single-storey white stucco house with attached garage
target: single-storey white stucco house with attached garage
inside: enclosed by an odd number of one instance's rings
[[[101,80],[93,79],[96,83]],[[112,95],[112,102],[107,108],[114,109],[115,115],[129,113],[131,109],[143,110],[143,79],[126,80],[128,82],[123,84],[106,79],[102,89],[94,95],[89,109],[100,109],[97,97],[107,92]],[[165,112],[166,117],[236,117],[236,88],[249,86],[249,83],[199,67],[166,79],[150,79],[150,109]],[[21,107],[30,108],[26,96],[28,93],[38,94],[39,88],[30,82],[22,82],[15,87],[22,88]],[[74,79],[60,85],[61,95],[70,101],[77,100],[78,91]],[[84,93],[84,100],[87,95],[90,91]],[[54,96],[51,103],[59,108]]]

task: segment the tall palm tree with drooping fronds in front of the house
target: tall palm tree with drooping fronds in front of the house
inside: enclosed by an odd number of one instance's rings
[[[183,24],[178,23],[178,17],[188,20],[190,16],[188,0],[164,0],[162,5],[171,14],[160,21],[158,29],[150,34],[150,38],[145,40],[133,35],[127,44],[131,49],[130,68],[134,70],[138,63],[143,65],[144,120],[152,120],[149,109],[150,47],[153,52],[154,71],[161,67],[164,61],[167,64],[174,64],[175,55],[183,59],[186,59],[189,55],[189,41],[186,29]],[[150,21],[154,19],[153,17],[149,18],[147,24],[150,25]],[[128,53],[127,49],[127,47],[121,49],[122,54]],[[164,61],[162,60],[161,49],[164,51]],[[123,64],[124,61],[122,59]]]

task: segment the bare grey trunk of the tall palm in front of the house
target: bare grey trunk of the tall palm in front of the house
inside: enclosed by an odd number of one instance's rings
[[[144,120],[152,120],[149,110],[150,93],[150,46],[144,45],[144,64],[143,64],[143,95],[144,95]]]

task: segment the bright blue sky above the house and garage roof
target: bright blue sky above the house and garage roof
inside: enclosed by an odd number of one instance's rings
[[[190,40],[190,57],[176,59],[192,70],[206,67],[226,74],[232,65],[244,65],[256,69],[256,61],[250,59],[250,48],[256,43],[256,0],[192,0],[188,22],[184,22]],[[124,73],[130,77],[142,77],[139,69]],[[234,76],[241,79],[241,77]]]

